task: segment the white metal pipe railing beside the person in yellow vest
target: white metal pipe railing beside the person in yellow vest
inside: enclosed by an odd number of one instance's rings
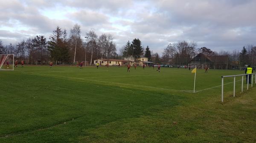
[[[224,92],[224,78],[229,78],[229,77],[233,77],[234,81],[233,81],[233,97],[235,97],[235,93],[236,93],[236,77],[237,76],[241,76],[241,92],[243,92],[243,88],[244,88],[244,76],[246,78],[246,76],[248,76],[248,80],[247,80],[247,90],[249,89],[249,75],[251,75],[251,87],[253,87],[253,75],[255,76],[255,84],[256,84],[256,73],[251,73],[251,74],[241,74],[241,75],[232,75],[232,76],[221,76],[221,102],[223,102],[223,92]]]

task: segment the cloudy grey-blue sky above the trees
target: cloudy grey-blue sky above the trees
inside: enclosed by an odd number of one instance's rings
[[[238,50],[256,44],[255,6],[256,0],[0,0],[0,39],[48,37],[56,26],[69,31],[78,23],[81,36],[110,33],[118,48],[139,38],[158,53],[180,40]]]

